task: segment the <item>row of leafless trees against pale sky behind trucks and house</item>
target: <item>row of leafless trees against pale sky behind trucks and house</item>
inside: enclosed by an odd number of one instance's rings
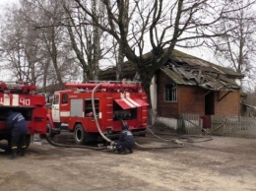
[[[253,0],[20,0],[7,12],[1,56],[14,76],[42,87],[97,80],[105,63],[132,62],[148,95],[175,47],[211,47],[252,78]],[[150,57],[145,59],[144,54]]]

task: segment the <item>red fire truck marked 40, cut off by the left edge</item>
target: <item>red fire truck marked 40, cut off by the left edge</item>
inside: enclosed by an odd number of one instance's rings
[[[27,147],[31,135],[46,133],[45,96],[37,94],[31,83],[0,82],[0,140],[7,140],[9,144],[11,136],[5,120],[10,110],[21,112],[27,120]]]

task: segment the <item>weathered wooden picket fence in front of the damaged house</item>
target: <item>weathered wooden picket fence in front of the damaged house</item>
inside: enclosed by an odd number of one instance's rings
[[[203,120],[198,114],[185,113],[178,119],[177,130],[188,134],[256,138],[256,118],[241,116],[211,115],[210,128],[203,128]]]

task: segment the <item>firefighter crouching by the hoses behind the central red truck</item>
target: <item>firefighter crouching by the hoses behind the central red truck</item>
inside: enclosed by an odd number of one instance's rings
[[[127,150],[130,152],[130,154],[132,154],[134,145],[135,141],[133,134],[128,130],[127,125],[123,125],[119,140],[116,143],[118,154],[125,155],[127,154]]]

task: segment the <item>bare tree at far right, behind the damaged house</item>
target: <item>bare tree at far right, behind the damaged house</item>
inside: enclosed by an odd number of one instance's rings
[[[248,6],[250,5],[250,6]],[[217,31],[228,31],[217,40],[212,40],[210,47],[220,60],[236,72],[246,75],[250,82],[255,80],[256,61],[256,10],[255,1],[238,1],[233,5],[238,11],[224,15]],[[229,31],[232,29],[231,31]]]

